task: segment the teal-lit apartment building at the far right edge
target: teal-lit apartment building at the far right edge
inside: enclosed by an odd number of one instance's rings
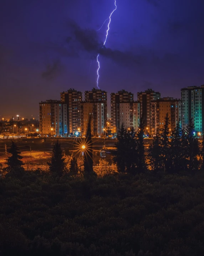
[[[193,119],[195,131],[203,132],[203,113],[204,113],[204,85],[190,86],[181,89],[182,98],[182,129]]]

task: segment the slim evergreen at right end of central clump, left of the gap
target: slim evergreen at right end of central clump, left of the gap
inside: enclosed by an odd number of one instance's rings
[[[140,120],[139,129],[136,134],[136,151],[137,151],[137,171],[144,172],[146,170],[146,157],[144,151],[144,125],[142,119]]]

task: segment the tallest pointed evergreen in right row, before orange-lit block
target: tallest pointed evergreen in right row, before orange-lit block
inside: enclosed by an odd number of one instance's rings
[[[163,165],[164,170],[169,172],[170,161],[170,144],[169,144],[169,115],[164,118],[164,127],[161,129],[161,142],[162,142],[162,158],[163,158]]]

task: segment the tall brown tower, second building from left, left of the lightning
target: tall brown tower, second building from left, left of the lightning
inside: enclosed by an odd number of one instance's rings
[[[61,102],[66,104],[67,135],[73,134],[81,126],[82,93],[74,89],[61,92]]]

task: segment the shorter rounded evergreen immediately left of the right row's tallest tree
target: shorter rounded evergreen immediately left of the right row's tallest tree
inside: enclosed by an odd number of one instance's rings
[[[164,170],[162,144],[159,135],[154,137],[153,143],[149,146],[149,165],[155,172]]]

